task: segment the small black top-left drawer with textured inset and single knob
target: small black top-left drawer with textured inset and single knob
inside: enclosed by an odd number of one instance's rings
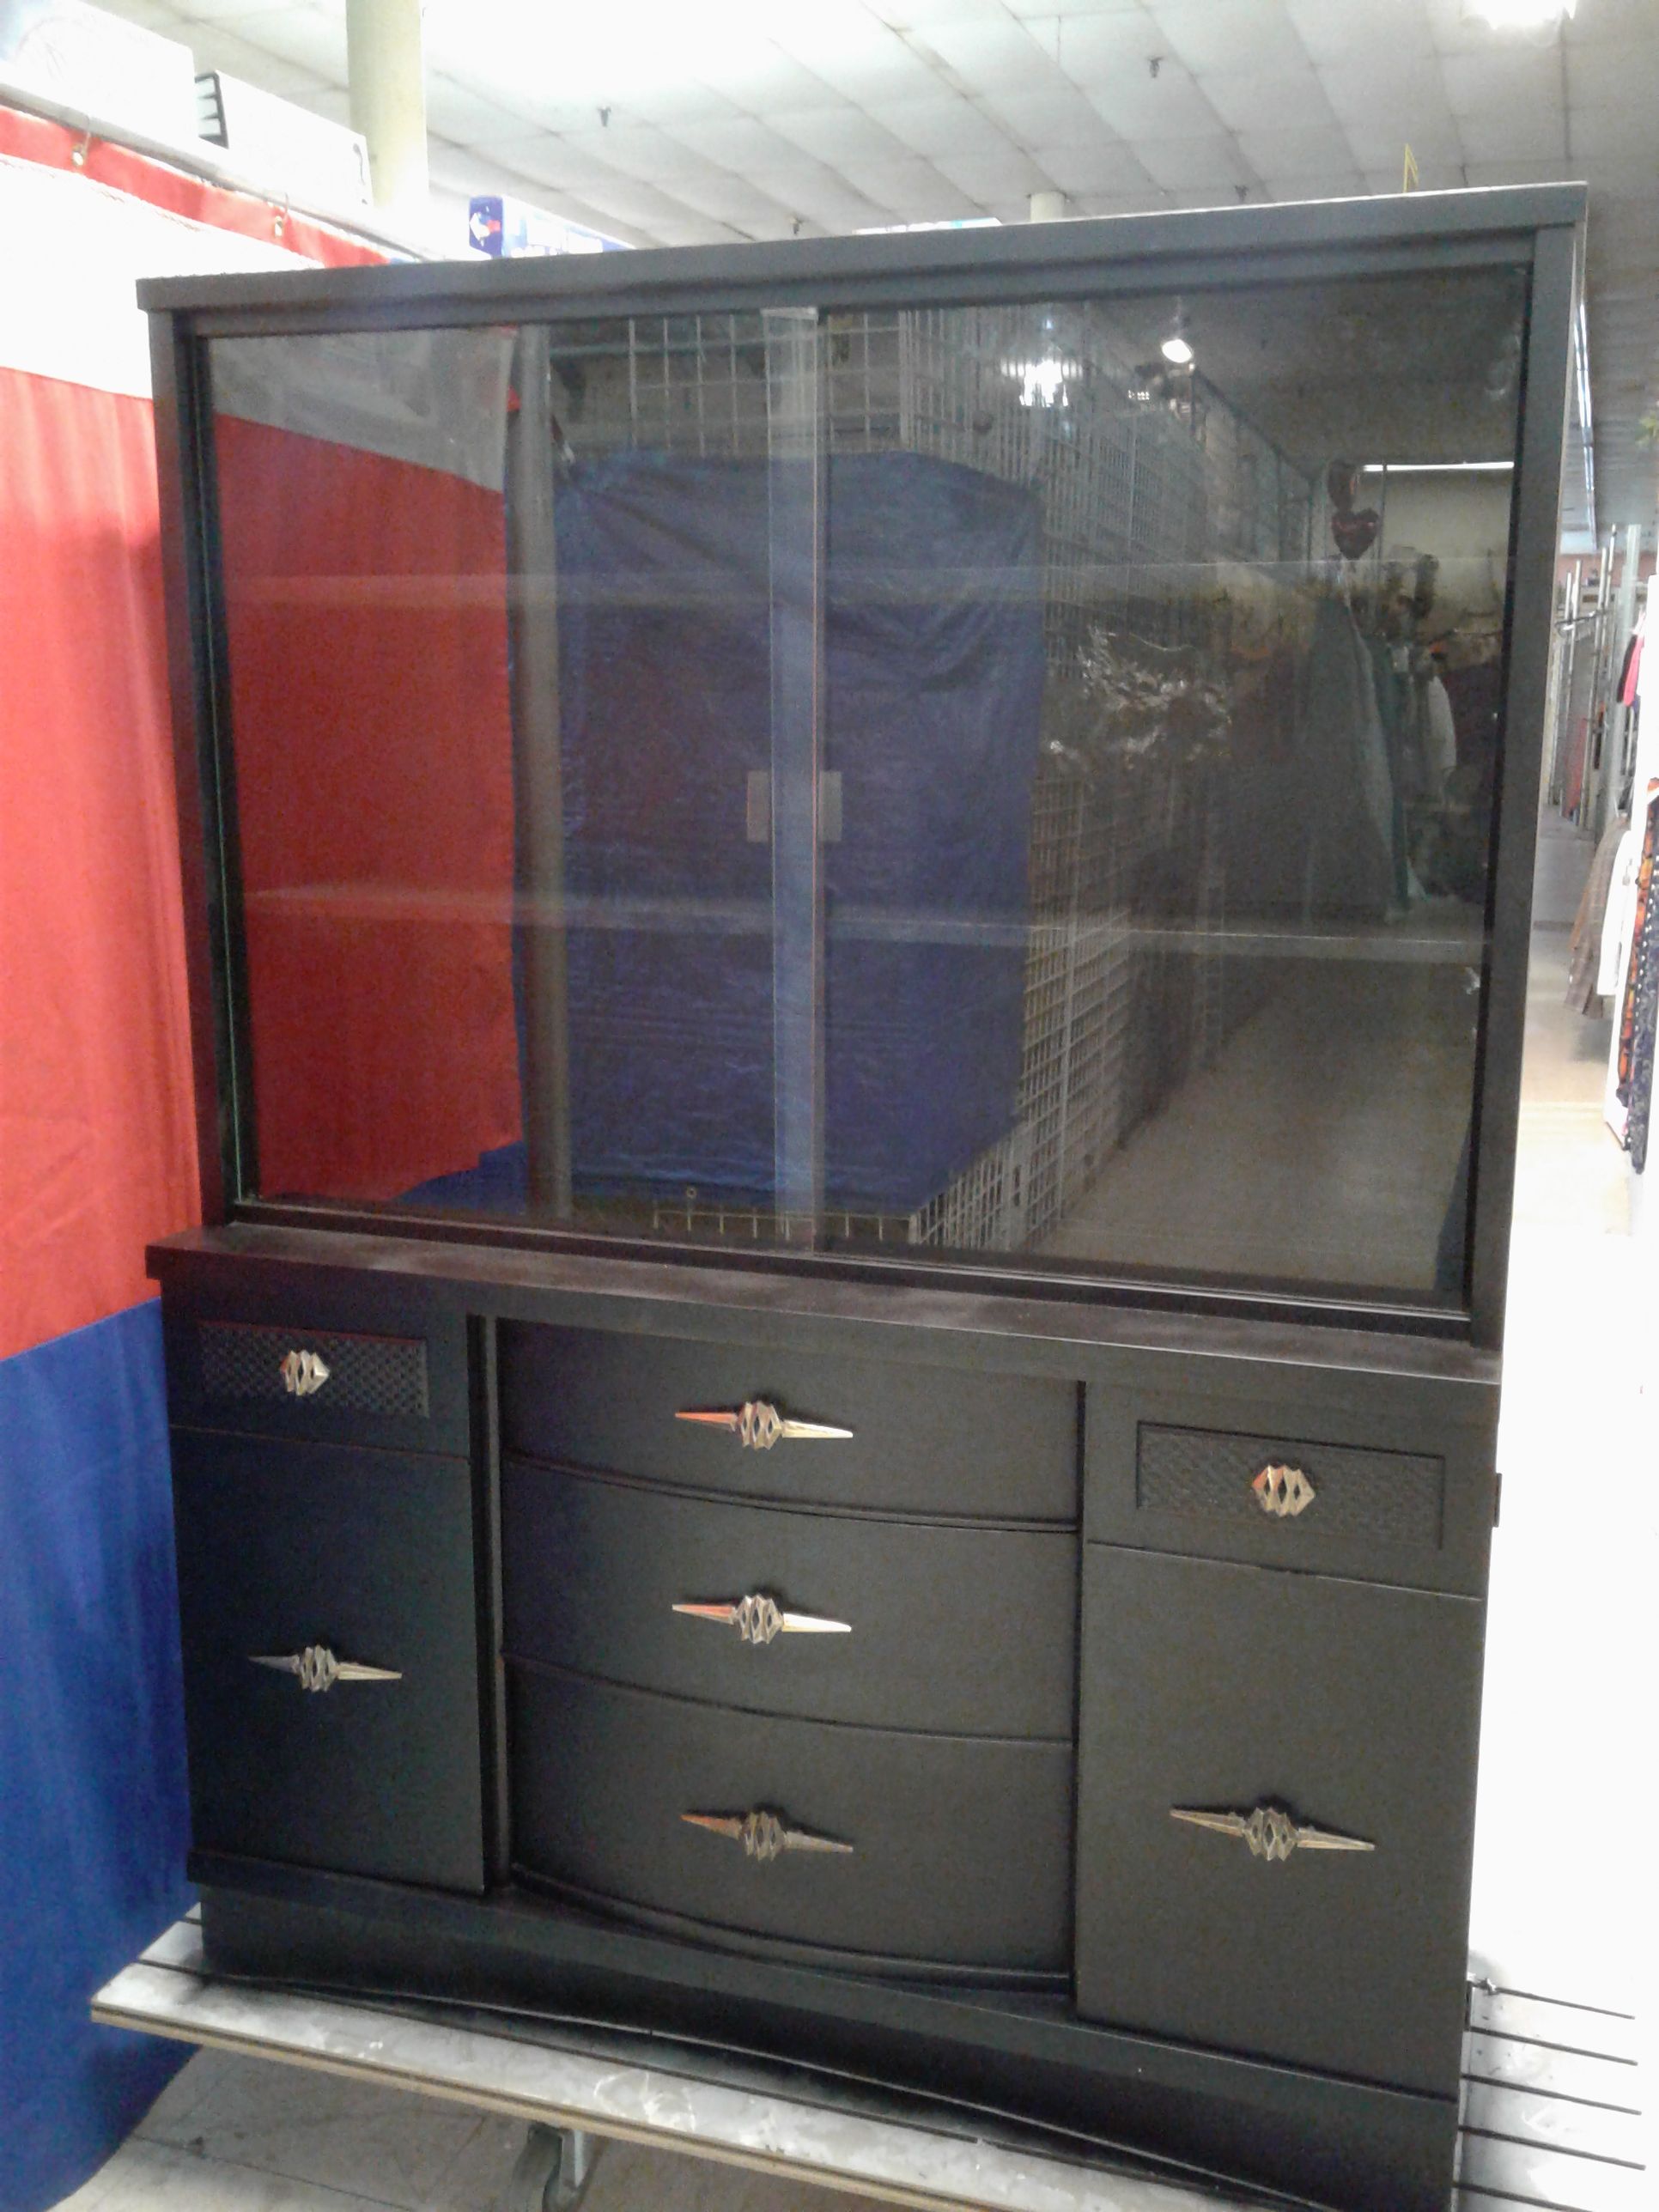
[[[376,1444],[469,1449],[465,1307],[407,1292],[389,1307],[372,1279],[290,1285],[272,1270],[223,1270],[199,1296],[164,1301],[168,1409],[190,1427]],[[288,1352],[319,1352],[327,1383],[285,1389]]]

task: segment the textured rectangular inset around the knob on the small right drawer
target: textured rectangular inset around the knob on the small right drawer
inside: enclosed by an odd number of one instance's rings
[[[1250,1484],[1263,1467],[1301,1467],[1314,1486],[1312,1504],[1281,1522],[1287,1542],[1305,1533],[1440,1548],[1447,1462],[1405,1451],[1146,1422],[1135,1451],[1135,1502],[1152,1513],[1259,1524],[1261,1502]]]

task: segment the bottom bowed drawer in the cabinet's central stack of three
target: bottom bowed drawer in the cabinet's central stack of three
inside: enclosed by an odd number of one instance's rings
[[[509,1732],[526,1876],[867,1971],[1068,1966],[1068,1745],[823,1728],[529,1666]],[[745,1843],[686,1814],[757,1818]]]

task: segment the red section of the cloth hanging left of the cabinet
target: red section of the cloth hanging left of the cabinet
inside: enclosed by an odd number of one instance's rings
[[[0,369],[0,1356],[197,1219],[148,400]]]

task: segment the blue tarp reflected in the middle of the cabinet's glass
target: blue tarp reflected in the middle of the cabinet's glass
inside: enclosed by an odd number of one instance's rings
[[[787,469],[790,462],[772,465]],[[560,487],[580,1192],[772,1190],[765,462],[617,453]],[[825,1192],[911,1210],[1013,1124],[1042,710],[1035,495],[830,462]]]

